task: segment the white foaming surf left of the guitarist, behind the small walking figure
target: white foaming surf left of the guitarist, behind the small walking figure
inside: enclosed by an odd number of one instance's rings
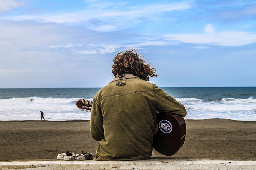
[[[0,120],[38,120],[40,111],[52,121],[89,120],[90,113],[77,108],[79,98],[25,97],[0,99]],[[92,100],[92,99],[87,99]]]

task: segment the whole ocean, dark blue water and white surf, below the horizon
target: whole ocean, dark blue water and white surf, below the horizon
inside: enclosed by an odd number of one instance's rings
[[[182,103],[185,119],[256,120],[256,87],[162,88]],[[93,100],[100,88],[0,89],[0,120],[90,120],[90,112],[76,106]]]

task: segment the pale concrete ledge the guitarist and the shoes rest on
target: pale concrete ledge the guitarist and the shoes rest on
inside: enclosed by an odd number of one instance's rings
[[[172,169],[172,170],[255,170],[256,159],[200,159],[200,158],[151,158],[138,161],[95,161],[95,160],[27,160],[0,161],[0,169]]]

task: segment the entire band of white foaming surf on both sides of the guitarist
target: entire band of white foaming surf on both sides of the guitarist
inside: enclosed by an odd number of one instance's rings
[[[256,99],[220,98],[202,100],[176,98],[188,114],[187,119],[228,118],[233,120],[256,120]],[[44,118],[52,121],[89,120],[90,113],[76,106],[79,98],[24,97],[0,99],[0,120],[38,120],[40,110]],[[87,99],[92,101],[92,98]]]

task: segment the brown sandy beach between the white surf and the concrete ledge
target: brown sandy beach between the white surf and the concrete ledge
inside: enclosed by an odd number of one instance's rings
[[[256,121],[186,120],[183,147],[173,156],[190,158],[256,158]],[[0,121],[0,160],[56,159],[67,150],[95,155],[98,141],[90,121]],[[153,150],[152,157],[167,157]]]

